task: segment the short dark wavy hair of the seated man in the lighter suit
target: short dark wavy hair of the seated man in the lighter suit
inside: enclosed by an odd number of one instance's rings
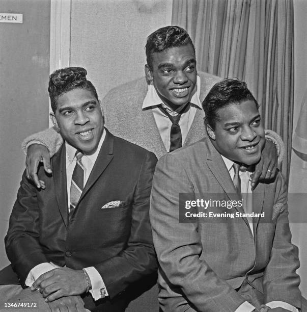
[[[216,120],[219,120],[217,110],[231,104],[242,103],[246,100],[258,102],[244,81],[226,78],[216,83],[203,101],[203,109],[206,114],[206,122],[214,129]]]

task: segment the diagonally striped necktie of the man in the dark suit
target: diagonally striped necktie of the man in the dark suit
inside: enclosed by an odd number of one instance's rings
[[[76,151],[76,165],[72,173],[71,186],[70,186],[70,210],[69,221],[73,215],[75,207],[80,199],[83,191],[83,175],[84,169],[81,162],[83,154],[80,151]]]

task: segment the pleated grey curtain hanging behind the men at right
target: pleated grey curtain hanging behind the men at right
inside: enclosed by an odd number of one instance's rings
[[[293,19],[293,0],[173,0],[172,24],[190,34],[198,69],[246,81],[265,128],[281,135],[286,177],[293,126]]]

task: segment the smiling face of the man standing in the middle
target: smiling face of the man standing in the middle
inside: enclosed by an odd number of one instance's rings
[[[197,71],[193,47],[183,45],[152,54],[152,68],[145,65],[147,80],[173,110],[190,101],[196,85]]]

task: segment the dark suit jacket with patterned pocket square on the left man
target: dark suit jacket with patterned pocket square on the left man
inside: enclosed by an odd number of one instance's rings
[[[94,266],[113,299],[154,272],[149,196],[155,164],[153,153],[107,132],[70,223],[65,144],[51,159],[52,176],[39,168],[45,190],[24,173],[5,238],[20,283],[43,262],[76,270]],[[101,209],[115,200],[123,204]]]

